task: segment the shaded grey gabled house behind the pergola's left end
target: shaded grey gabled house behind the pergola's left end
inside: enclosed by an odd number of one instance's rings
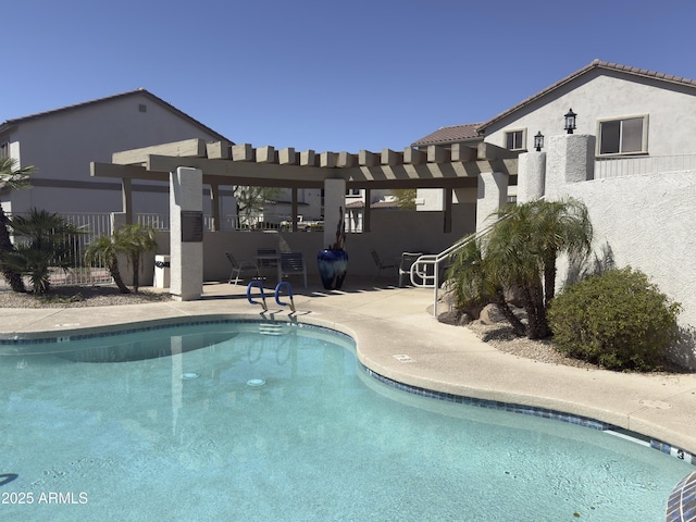
[[[0,157],[34,165],[32,188],[0,192],[7,212],[30,208],[58,213],[112,212],[122,208],[122,185],[90,177],[91,161],[116,151],[187,138],[227,140],[145,89],[133,90],[0,124]],[[228,140],[227,140],[228,141]],[[133,184],[137,213],[167,214],[169,187]],[[235,214],[232,192],[225,213]]]

